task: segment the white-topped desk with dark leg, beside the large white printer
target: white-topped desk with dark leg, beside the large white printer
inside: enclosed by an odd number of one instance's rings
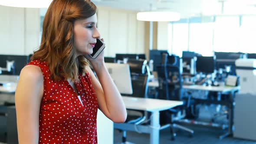
[[[219,94],[228,94],[229,98],[226,101],[207,101],[209,103],[226,105],[229,108],[229,124],[228,131],[221,135],[219,138],[223,139],[231,134],[234,131],[233,118],[234,118],[234,106],[235,106],[235,92],[240,90],[240,87],[227,87],[227,86],[203,86],[203,85],[184,85],[183,88],[185,90],[201,90],[201,91],[209,91],[209,92],[218,92]],[[204,101],[201,101],[204,102]],[[188,120],[183,120],[188,121]],[[214,125],[211,123],[211,125]]]

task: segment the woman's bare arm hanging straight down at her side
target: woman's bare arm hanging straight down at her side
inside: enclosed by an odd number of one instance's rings
[[[39,109],[43,97],[43,74],[36,65],[20,72],[15,92],[19,144],[38,144]]]

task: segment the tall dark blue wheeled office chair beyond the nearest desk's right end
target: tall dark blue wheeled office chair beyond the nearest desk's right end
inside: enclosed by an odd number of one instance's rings
[[[159,82],[158,98],[182,101],[182,78],[179,67],[179,57],[169,56],[168,54],[163,53],[162,64],[157,66],[157,72]],[[177,106],[160,113],[162,123],[171,123],[171,140],[175,139],[175,128],[189,132],[190,136],[193,136],[194,134],[193,130],[175,123],[175,120],[185,117],[185,110],[187,107],[187,101],[184,101],[184,105]]]

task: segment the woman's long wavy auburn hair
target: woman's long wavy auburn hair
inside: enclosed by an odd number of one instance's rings
[[[53,0],[43,20],[43,34],[39,49],[31,60],[47,62],[55,81],[78,80],[89,65],[84,56],[76,57],[73,25],[75,20],[93,16],[97,7],[90,0]]]

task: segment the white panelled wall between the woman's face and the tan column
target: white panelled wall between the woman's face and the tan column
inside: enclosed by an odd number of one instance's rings
[[[99,7],[98,30],[107,45],[105,56],[145,51],[145,23],[136,20],[135,12]]]

